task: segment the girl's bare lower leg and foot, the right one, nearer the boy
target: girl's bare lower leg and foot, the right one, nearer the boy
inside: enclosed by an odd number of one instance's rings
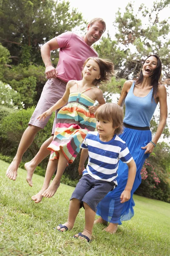
[[[59,152],[59,160],[58,160],[58,166],[57,166],[57,174],[54,177],[54,180],[51,182],[48,189],[46,189],[42,193],[42,195],[46,198],[51,198],[57,191],[63,172],[65,171],[65,168],[67,167],[67,164],[68,164],[68,160],[65,158],[62,151],[59,150],[58,152]]]

